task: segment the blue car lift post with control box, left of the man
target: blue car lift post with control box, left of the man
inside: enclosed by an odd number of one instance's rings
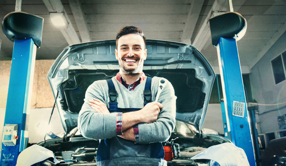
[[[26,115],[29,114],[31,105],[36,47],[41,45],[43,18],[24,12],[12,12],[4,17],[2,29],[6,37],[14,41],[14,47],[0,165],[15,166],[19,153],[26,148],[28,142]]]

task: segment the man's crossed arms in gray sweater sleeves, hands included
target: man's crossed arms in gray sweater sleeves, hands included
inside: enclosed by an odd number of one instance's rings
[[[153,79],[156,82],[159,78]],[[169,139],[175,127],[176,109],[175,92],[170,82],[167,81],[158,102],[151,102],[140,110],[122,114],[123,135],[118,135],[116,114],[110,114],[106,107],[108,88],[104,81],[94,82],[86,91],[85,102],[78,117],[78,128],[84,137],[97,140],[119,136],[134,141],[133,126],[138,124],[139,140],[136,143],[164,142]],[[158,86],[152,87],[154,100]]]

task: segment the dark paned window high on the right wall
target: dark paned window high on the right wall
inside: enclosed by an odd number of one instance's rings
[[[271,61],[275,84],[285,80],[286,51]]]

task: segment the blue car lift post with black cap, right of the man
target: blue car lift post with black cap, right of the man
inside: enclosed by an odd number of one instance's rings
[[[225,136],[237,147],[242,148],[249,165],[255,166],[250,117],[247,111],[236,43],[236,40],[245,34],[246,20],[239,13],[227,12],[211,18],[209,23],[212,44],[217,47],[220,67],[224,99],[223,119],[226,121]]]

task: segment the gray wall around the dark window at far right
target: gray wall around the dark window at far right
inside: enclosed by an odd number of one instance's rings
[[[286,102],[286,80],[275,84],[271,60],[286,50],[286,32],[276,41],[270,50],[251,68],[250,81],[253,99],[262,104]],[[286,113],[286,108],[275,110],[284,105],[259,105],[257,122],[259,133],[278,131],[277,116]],[[273,111],[270,111],[273,110]],[[270,111],[270,112],[267,112]],[[267,112],[267,113],[266,113]]]

